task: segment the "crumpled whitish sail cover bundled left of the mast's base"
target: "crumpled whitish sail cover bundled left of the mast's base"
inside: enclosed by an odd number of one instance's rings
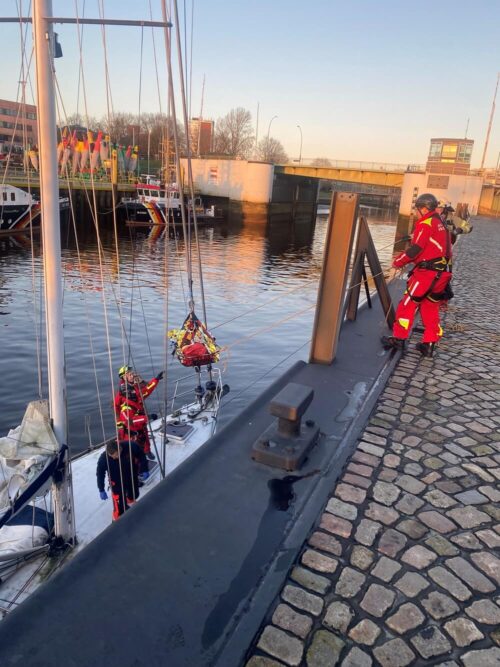
[[[21,425],[0,438],[0,517],[58,450],[47,402],[32,401]]]

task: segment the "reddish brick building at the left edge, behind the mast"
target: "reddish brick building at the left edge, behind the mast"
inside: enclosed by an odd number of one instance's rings
[[[7,152],[10,146],[22,150],[37,143],[36,107],[0,100],[0,152]]]

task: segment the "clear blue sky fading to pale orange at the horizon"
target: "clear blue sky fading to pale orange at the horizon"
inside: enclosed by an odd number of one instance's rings
[[[0,0],[0,14],[18,16],[19,4],[27,13],[29,0]],[[98,17],[100,6],[107,18],[149,19],[150,7],[161,18],[159,0],[53,0],[53,15]],[[217,120],[248,109],[259,139],[269,132],[295,159],[302,136],[302,158],[422,164],[432,137],[466,135],[475,141],[472,164],[480,165],[500,72],[498,0],[178,0],[178,8],[192,116]],[[66,114],[85,113],[84,100],[98,118],[108,108],[166,110],[161,30],[154,49],[151,28],[109,27],[105,58],[100,28],[86,26],[84,88],[76,26],[56,31]],[[0,98],[16,99],[19,25],[0,24],[0,36]],[[29,84],[26,90],[30,101]],[[485,165],[494,167],[499,154],[497,109]]]

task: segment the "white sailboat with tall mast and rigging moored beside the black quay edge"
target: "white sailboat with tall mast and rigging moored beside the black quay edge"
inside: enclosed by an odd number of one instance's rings
[[[165,3],[162,9],[163,21],[123,23],[164,29],[169,89],[173,93],[169,60],[172,24],[167,21]],[[102,502],[96,488],[97,460],[105,444],[72,460],[69,456],[51,0],[33,0],[32,21],[40,135],[49,396],[48,400],[32,401],[20,426],[0,438],[1,477],[5,481],[0,487],[0,615],[18,606],[53,571],[111,523],[109,503]],[[57,21],[61,23],[64,19]],[[99,22],[106,23],[105,20]],[[183,107],[186,114],[184,95]],[[175,115],[173,98],[171,108]],[[177,170],[180,173],[179,158]],[[186,224],[185,219],[183,224]],[[220,370],[214,365],[218,346],[194,312],[189,252],[186,252],[186,264],[189,314],[182,327],[170,332],[170,336],[177,358],[194,373],[176,382],[168,414],[165,410],[164,415],[149,421],[156,461],[141,496],[214,434],[221,399],[228,391],[222,384]],[[206,314],[204,319],[206,321]],[[193,378],[195,390],[191,395],[186,386],[192,388]]]

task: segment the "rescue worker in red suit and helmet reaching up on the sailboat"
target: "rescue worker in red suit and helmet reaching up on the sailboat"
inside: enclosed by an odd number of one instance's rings
[[[118,375],[120,387],[114,400],[118,439],[135,440],[144,450],[146,457],[154,461],[147,424],[158,417],[152,413],[148,418],[144,399],[156,389],[163,378],[163,371],[147,383],[130,366],[122,366]]]

